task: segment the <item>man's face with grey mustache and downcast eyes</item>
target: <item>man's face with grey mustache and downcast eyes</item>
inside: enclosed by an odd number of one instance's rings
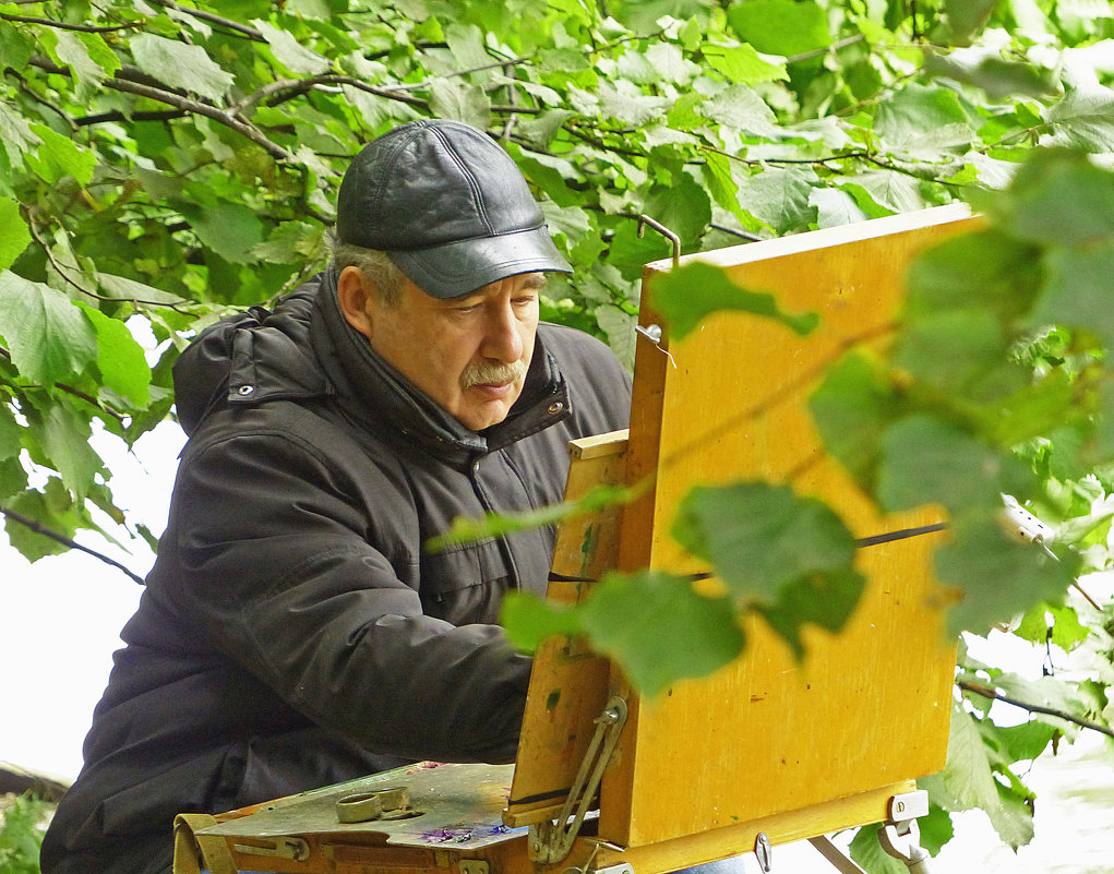
[[[479,431],[506,419],[522,393],[544,285],[545,274],[525,273],[439,299],[403,279],[394,305],[368,295],[365,333],[423,394]]]

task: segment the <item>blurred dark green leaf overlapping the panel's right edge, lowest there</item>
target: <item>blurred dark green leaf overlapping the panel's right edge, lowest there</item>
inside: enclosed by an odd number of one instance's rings
[[[960,595],[948,611],[955,634],[984,634],[1040,601],[1061,601],[1077,561],[1056,561],[1032,543],[1008,536],[996,515],[955,519],[950,539],[932,557],[937,579]]]

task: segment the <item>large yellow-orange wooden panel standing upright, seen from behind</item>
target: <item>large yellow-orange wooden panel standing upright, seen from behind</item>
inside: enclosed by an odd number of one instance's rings
[[[821,325],[802,338],[771,320],[717,314],[684,342],[666,334],[675,367],[639,341],[628,479],[655,473],[656,482],[624,515],[622,567],[701,569],[667,536],[677,501],[698,482],[791,482],[860,537],[938,521],[927,511],[877,514],[823,451],[805,401],[847,347],[887,342],[913,255],[971,222],[949,207],[693,256],[774,293],[785,310],[817,312]],[[656,321],[653,278],[667,266],[647,267],[643,325]],[[839,637],[809,629],[805,665],[755,621],[746,652],[724,671],[632,701],[600,834],[639,846],[938,770],[954,667],[930,603],[928,551],[939,537],[861,550],[860,608]]]

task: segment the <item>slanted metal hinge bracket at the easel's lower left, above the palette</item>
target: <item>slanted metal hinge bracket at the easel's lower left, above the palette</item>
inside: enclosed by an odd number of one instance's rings
[[[580,769],[557,819],[530,826],[527,846],[531,862],[556,864],[571,852],[584,817],[599,792],[604,769],[610,762],[619,733],[626,724],[626,701],[615,696],[596,718],[596,733],[584,754]]]

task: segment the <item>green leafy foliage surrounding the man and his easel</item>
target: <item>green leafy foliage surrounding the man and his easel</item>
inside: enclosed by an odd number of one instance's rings
[[[880,507],[947,510],[937,572],[955,589],[957,630],[1028,610],[1018,634],[1101,650],[1108,617],[1064,593],[1110,563],[1114,91],[1096,59],[1112,40],[1106,4],[1063,0],[0,3],[9,538],[35,559],[97,530],[99,512],[126,521],[92,430],[130,444],[173,415],[169,369],[188,338],[323,264],[361,144],[441,116],[497,137],[543,200],[576,268],[550,283],[545,315],[605,336],[627,362],[642,265],[670,255],[639,235],[641,215],[687,253],[970,199],[986,229],[916,265],[887,352],[833,362],[812,410]],[[809,314],[705,274],[700,299],[668,312],[677,330],[729,298],[810,328]],[[154,350],[134,338],[147,328]],[[1056,523],[1057,561],[995,527],[1001,492]],[[755,502],[780,508],[761,530],[742,523]],[[511,601],[527,617],[515,634],[588,634],[662,688],[731,658],[739,611],[799,647],[802,623],[837,629],[858,598],[839,520],[768,484],[695,492],[677,536],[724,592],[616,578],[595,608]],[[641,619],[616,628],[593,613],[604,607]],[[701,634],[663,658],[681,617]],[[1059,704],[1108,725],[1108,681],[1065,686]],[[1022,743],[967,695],[956,785],[938,782],[932,822],[947,839],[945,811],[998,805],[991,819],[1016,845],[1028,796],[1010,763],[1047,730]]]

